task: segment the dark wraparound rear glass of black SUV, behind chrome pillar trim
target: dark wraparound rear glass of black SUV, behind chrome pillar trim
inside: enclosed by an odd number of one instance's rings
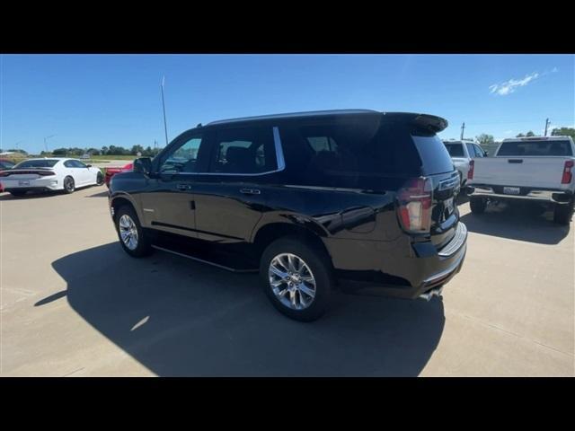
[[[304,177],[419,176],[454,169],[435,133],[401,120],[317,120],[280,130],[290,171]]]

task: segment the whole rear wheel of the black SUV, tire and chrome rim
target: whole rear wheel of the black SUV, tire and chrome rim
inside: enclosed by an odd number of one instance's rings
[[[280,238],[261,255],[261,282],[276,309],[296,321],[314,321],[327,309],[332,270],[325,253],[298,238]]]

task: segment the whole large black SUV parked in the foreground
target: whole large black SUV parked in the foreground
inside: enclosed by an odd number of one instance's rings
[[[258,271],[280,312],[317,319],[338,284],[439,295],[461,268],[459,176],[438,117],[331,110],[216,121],[111,180],[121,246]]]

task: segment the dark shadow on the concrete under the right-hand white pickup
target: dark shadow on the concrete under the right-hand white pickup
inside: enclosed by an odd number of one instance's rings
[[[499,236],[511,240],[557,244],[569,234],[570,226],[553,223],[553,212],[542,215],[534,207],[507,205],[488,206],[482,215],[466,214],[461,221],[470,232]]]

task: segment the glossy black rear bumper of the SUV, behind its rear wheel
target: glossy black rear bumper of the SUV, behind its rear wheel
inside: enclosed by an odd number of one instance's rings
[[[385,245],[345,242],[343,247],[327,244],[342,286],[413,299],[445,285],[461,270],[467,252],[467,229],[459,222],[456,235],[440,251],[431,242],[411,243],[407,236]]]

